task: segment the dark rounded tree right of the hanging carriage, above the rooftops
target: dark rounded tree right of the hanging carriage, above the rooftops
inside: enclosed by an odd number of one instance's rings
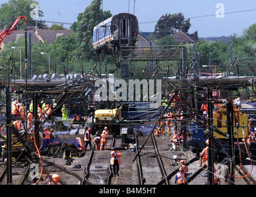
[[[181,26],[183,31],[187,32],[191,26],[190,19],[185,20],[181,12],[178,14],[165,14],[156,23],[154,34],[156,38],[172,36]]]

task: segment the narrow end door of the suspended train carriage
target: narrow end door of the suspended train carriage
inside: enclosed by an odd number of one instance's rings
[[[130,20],[129,18],[119,19],[119,42],[121,46],[127,46],[130,38]]]

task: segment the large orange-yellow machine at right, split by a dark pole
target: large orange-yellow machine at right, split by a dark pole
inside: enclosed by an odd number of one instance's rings
[[[238,124],[237,124],[238,123]],[[244,135],[242,134],[242,125],[244,124]],[[245,113],[242,113],[239,108],[234,106],[234,137],[237,138],[237,126],[238,126],[238,139],[241,140],[243,137],[248,138],[249,135],[249,118]],[[227,115],[226,105],[218,105],[218,109],[213,112],[213,125],[216,126],[223,133],[227,133]],[[219,135],[213,132],[216,138],[225,139],[223,135]]]

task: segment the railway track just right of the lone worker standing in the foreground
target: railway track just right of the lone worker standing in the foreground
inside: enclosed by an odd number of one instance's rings
[[[145,138],[142,138],[145,139]],[[142,139],[136,136],[137,148],[142,144]],[[153,150],[153,151],[152,151]],[[138,153],[137,149],[137,153]],[[163,179],[163,184],[169,185],[169,180],[166,178],[166,170],[163,161],[156,145],[156,139],[153,134],[148,138],[147,143],[137,156],[137,167],[139,173],[139,184],[154,185],[158,180]]]

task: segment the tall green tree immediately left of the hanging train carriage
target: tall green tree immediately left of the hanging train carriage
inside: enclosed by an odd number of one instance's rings
[[[92,38],[93,38],[93,28],[98,23],[111,17],[110,11],[105,11],[100,9],[101,1],[93,0],[90,6],[88,6],[79,17],[80,21],[75,24],[75,43],[77,44],[77,58],[85,58],[90,60],[93,55]]]

